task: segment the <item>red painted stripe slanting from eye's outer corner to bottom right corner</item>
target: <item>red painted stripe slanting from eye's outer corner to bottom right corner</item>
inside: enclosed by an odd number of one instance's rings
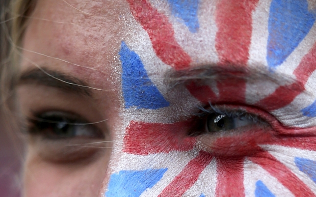
[[[316,196],[304,182],[302,182],[284,164],[279,162],[268,152],[260,152],[254,157],[248,157],[252,162],[260,165],[295,196]]]

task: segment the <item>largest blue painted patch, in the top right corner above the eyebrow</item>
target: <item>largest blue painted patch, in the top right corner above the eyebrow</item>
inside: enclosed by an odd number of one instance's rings
[[[273,0],[269,15],[267,61],[270,68],[282,64],[305,38],[315,22],[306,0]]]

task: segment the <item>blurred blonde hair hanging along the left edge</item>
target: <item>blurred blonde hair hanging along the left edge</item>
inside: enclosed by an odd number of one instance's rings
[[[0,16],[0,118],[7,129],[16,130],[15,85],[19,78],[20,46],[35,0],[5,1]],[[11,124],[10,124],[11,123]]]

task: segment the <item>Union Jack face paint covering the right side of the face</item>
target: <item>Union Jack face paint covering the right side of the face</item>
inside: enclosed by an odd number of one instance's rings
[[[104,195],[316,196],[313,3],[127,4],[117,54],[123,125]],[[206,107],[269,126],[191,135]]]

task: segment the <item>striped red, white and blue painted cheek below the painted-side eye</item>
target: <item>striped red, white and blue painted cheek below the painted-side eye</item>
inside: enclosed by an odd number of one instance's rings
[[[190,137],[191,124],[130,121],[121,148],[114,150],[105,195],[314,195],[316,155],[300,147],[311,138],[284,140],[260,128],[228,137]]]

